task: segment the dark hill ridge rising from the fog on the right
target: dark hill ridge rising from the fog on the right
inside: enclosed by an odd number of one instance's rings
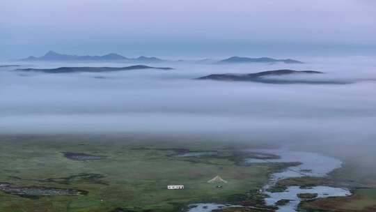
[[[285,78],[278,77],[283,75],[313,75],[324,74],[315,70],[268,70],[258,73],[249,74],[214,74],[207,75],[205,77],[199,77],[197,79],[212,79],[220,81],[247,81],[247,82],[263,82],[270,84],[347,84],[349,82],[326,80],[326,79],[298,79],[298,78]]]

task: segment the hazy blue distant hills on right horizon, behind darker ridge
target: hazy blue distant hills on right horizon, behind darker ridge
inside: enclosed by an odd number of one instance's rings
[[[224,59],[219,61],[218,63],[303,63],[301,61],[293,60],[293,59],[273,59],[270,57],[258,57],[258,58],[250,58],[250,57],[241,57],[241,56],[231,56],[228,59]]]

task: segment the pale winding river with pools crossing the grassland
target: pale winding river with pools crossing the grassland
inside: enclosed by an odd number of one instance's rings
[[[265,185],[262,192],[268,195],[265,199],[267,205],[275,205],[281,199],[288,199],[290,202],[283,206],[279,206],[279,212],[297,211],[297,206],[301,199],[297,197],[299,193],[317,194],[315,198],[324,197],[343,197],[351,195],[351,192],[346,188],[333,188],[329,186],[313,186],[310,188],[300,188],[299,186],[289,186],[283,192],[269,192],[268,188],[274,186],[278,181],[288,178],[296,178],[302,176],[318,176],[324,177],[329,172],[341,167],[342,162],[336,158],[322,156],[319,153],[310,153],[304,151],[290,151],[288,149],[249,149],[250,153],[263,153],[279,156],[278,159],[247,159],[247,163],[270,163],[270,162],[301,162],[295,167],[288,167],[283,172],[272,174],[269,183]],[[235,207],[233,205],[224,204],[194,204],[190,206],[189,212],[210,212],[214,209],[222,209],[228,207]]]

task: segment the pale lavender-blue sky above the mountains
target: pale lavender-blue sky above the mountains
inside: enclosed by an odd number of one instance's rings
[[[0,59],[370,55],[373,0],[1,0]]]

